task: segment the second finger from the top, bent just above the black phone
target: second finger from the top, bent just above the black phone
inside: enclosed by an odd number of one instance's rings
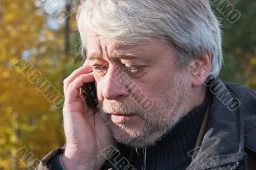
[[[84,83],[95,81],[93,73],[79,75],[74,81],[70,82],[67,88],[66,100],[68,103],[76,102],[77,98],[80,98],[80,88]]]

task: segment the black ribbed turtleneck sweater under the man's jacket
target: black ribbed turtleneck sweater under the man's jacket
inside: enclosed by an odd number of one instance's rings
[[[135,151],[134,148],[120,143],[118,143],[117,148],[120,150],[122,157],[130,160],[129,164],[137,170],[186,169],[191,163],[191,155],[195,149],[196,139],[204,120],[207,105],[208,99],[206,97],[202,104],[186,114],[170,132],[167,132],[154,146],[149,146],[147,150],[138,149]],[[121,155],[115,158],[115,161],[122,158]],[[143,167],[144,164],[146,167]],[[116,165],[113,166],[113,163],[111,165],[110,162],[108,162],[108,165],[113,169],[124,169],[117,168]]]

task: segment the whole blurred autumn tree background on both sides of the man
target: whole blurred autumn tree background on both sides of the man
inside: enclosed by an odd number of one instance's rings
[[[79,0],[0,0],[0,170],[33,169],[65,143],[63,79],[83,65]],[[211,1],[223,30],[220,73],[256,90],[256,1]]]

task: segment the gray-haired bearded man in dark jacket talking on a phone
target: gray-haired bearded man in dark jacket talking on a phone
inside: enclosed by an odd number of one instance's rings
[[[209,1],[87,0],[86,61],[64,81],[66,146],[37,169],[253,169],[256,93],[218,79]],[[99,105],[84,101],[97,86]]]

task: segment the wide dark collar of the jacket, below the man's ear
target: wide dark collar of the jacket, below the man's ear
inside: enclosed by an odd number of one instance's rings
[[[205,86],[211,92],[209,120],[200,147],[188,169],[232,169],[244,160],[244,128],[241,102],[220,79],[210,78]]]

